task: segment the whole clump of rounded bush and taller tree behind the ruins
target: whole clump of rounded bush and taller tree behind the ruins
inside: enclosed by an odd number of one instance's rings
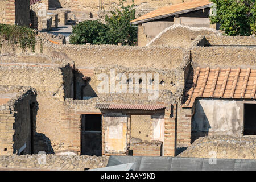
[[[134,5],[117,7],[111,15],[105,16],[106,24],[98,20],[85,20],[72,29],[69,42],[72,44],[118,44],[134,45],[137,42],[137,28],[131,26],[130,21],[135,19]]]

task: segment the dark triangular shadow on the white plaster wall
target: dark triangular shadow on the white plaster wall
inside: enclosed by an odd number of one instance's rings
[[[203,106],[199,100],[196,100],[191,123],[191,143],[199,137],[205,137],[209,134],[210,126],[207,115],[205,115]]]

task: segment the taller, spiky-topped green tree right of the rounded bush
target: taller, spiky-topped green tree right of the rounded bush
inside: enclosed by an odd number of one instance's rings
[[[135,19],[134,4],[125,6],[123,5],[125,1],[120,2],[121,9],[115,7],[114,11],[111,11],[111,15],[105,17],[106,24],[109,27],[107,35],[110,44],[134,45],[137,42],[137,27],[130,24],[130,21]]]

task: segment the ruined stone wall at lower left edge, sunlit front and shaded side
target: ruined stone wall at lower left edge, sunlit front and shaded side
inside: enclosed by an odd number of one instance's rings
[[[31,88],[23,87],[6,87],[1,86],[1,94],[13,93],[11,98],[5,105],[1,105],[0,110],[0,155],[13,154],[18,152],[20,148],[26,144],[23,154],[31,154],[32,151],[32,129],[34,121],[31,118],[31,104],[36,103],[36,92]],[[19,151],[21,152],[21,151]]]

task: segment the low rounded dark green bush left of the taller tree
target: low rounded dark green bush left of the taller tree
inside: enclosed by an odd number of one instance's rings
[[[98,20],[85,20],[72,28],[71,44],[108,44],[108,26]]]

